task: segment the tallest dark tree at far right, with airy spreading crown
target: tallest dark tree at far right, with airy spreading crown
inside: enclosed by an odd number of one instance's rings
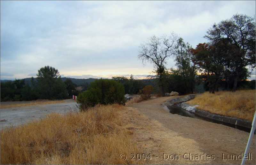
[[[215,58],[218,56],[219,60],[222,60],[219,62],[225,63],[229,76],[234,78],[233,91],[235,91],[239,78],[244,77],[246,73],[246,67],[255,68],[256,37],[253,18],[244,14],[235,14],[228,20],[214,24],[204,37],[215,49]]]

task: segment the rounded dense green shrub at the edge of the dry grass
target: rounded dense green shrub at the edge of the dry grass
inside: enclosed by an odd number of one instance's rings
[[[123,104],[124,86],[114,80],[100,79],[91,83],[88,90],[80,93],[77,97],[80,110],[97,104]]]

